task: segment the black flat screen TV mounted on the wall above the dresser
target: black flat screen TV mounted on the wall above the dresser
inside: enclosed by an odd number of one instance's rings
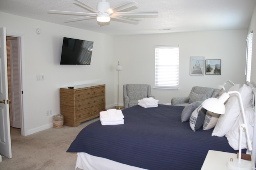
[[[93,41],[63,38],[60,64],[90,65]]]

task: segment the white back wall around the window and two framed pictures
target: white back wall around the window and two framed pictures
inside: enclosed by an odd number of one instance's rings
[[[188,96],[193,86],[216,87],[227,79],[244,83],[247,30],[166,33],[114,38],[115,60],[123,66],[123,84],[150,84],[159,103]],[[179,45],[179,90],[154,89],[155,45]],[[221,59],[221,75],[190,76],[190,57]],[[119,103],[123,103],[122,96]]]

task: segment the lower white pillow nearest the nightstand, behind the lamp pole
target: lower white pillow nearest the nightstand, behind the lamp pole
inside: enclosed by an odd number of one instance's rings
[[[250,140],[252,142],[252,136],[253,136],[253,124],[254,124],[254,110],[251,107],[247,107],[244,109],[247,127],[248,127],[248,133]],[[230,147],[232,147],[234,150],[238,150],[238,143],[239,143],[239,126],[244,123],[242,113],[238,116],[238,119],[236,120],[235,124],[233,125],[232,129],[225,135],[228,139],[228,143]],[[242,149],[247,148],[247,141],[246,141],[246,135],[245,131],[242,131]]]

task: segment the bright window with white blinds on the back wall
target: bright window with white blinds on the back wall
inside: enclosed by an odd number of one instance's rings
[[[179,88],[179,46],[155,47],[155,87]]]

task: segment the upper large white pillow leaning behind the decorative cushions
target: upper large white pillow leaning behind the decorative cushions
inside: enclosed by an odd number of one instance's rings
[[[242,87],[240,84],[235,84],[228,91],[238,91],[241,94],[242,102],[244,108],[251,106],[252,99],[252,89],[250,86],[244,84]],[[212,131],[212,136],[223,137],[230,131],[234,125],[239,113],[240,106],[238,103],[237,94],[230,94],[230,98],[225,104],[226,112],[223,115],[220,115],[214,130]]]

